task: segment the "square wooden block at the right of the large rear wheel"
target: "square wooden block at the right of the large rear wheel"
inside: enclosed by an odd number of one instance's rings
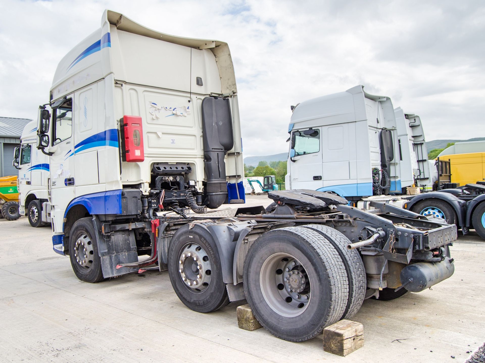
[[[364,326],[342,319],[323,329],[323,350],[346,356],[364,346]]]

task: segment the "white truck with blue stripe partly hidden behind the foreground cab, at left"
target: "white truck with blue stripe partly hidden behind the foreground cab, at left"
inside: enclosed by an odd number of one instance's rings
[[[15,149],[14,166],[18,169],[19,213],[27,216],[32,227],[42,227],[50,224],[49,156],[36,148],[36,132],[36,121],[25,126]]]

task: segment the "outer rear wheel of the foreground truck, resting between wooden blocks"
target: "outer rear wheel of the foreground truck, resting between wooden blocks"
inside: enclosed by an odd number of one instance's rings
[[[301,342],[339,321],[349,284],[335,247],[303,227],[266,232],[244,261],[244,292],[259,323],[278,338]]]

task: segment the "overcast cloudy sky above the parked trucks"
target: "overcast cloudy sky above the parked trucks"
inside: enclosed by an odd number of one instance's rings
[[[105,8],[225,41],[244,156],[286,152],[290,106],[362,84],[416,113],[427,140],[485,136],[485,2],[0,1],[0,116],[36,118],[59,60]]]

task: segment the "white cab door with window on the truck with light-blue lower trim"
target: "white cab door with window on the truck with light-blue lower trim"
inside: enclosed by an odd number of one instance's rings
[[[291,189],[317,190],[323,187],[321,134],[320,127],[291,133]]]

